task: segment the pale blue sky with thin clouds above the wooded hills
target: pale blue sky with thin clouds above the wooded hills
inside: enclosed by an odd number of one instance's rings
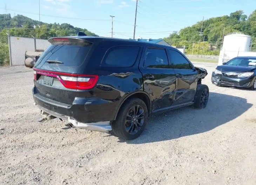
[[[0,14],[21,14],[45,23],[69,23],[100,36],[133,38],[136,0],[4,0]],[[6,9],[5,9],[6,7]],[[256,0],[139,0],[135,38],[169,36],[203,19],[256,9]],[[63,18],[64,17],[64,18]]]

